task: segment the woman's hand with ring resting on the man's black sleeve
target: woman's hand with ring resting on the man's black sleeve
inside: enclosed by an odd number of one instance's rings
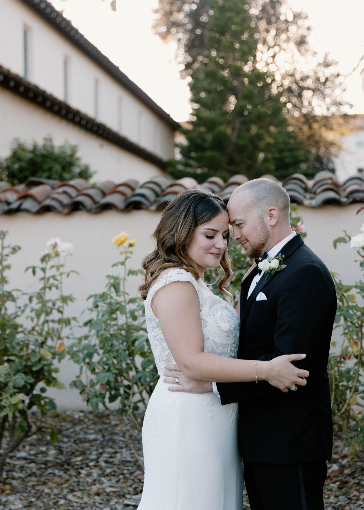
[[[270,366],[266,380],[284,393],[296,391],[297,386],[306,386],[305,378],[309,376],[309,372],[292,364],[293,361],[301,361],[305,357],[306,354],[283,354],[273,358],[268,362]]]

